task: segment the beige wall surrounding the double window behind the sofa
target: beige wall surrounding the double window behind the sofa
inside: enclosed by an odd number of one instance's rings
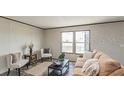
[[[45,47],[51,47],[53,56],[60,53],[60,32],[63,31],[91,31],[91,49],[98,49],[124,64],[124,23],[109,23],[90,26],[50,29],[45,31]],[[76,60],[78,55],[67,54],[66,57]]]

